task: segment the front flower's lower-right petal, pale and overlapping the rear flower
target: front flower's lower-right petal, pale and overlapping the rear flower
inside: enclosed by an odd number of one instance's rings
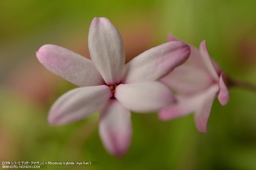
[[[119,84],[116,99],[134,112],[154,112],[175,103],[172,92],[160,82]]]

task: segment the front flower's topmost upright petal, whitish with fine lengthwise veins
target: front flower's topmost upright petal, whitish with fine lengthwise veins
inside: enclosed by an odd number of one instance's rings
[[[120,83],[125,62],[123,39],[107,18],[92,20],[88,46],[92,62],[106,84]]]

